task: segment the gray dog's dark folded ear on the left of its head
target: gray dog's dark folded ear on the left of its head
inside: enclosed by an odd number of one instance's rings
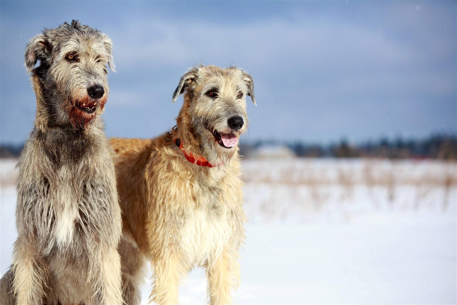
[[[37,60],[46,62],[51,58],[52,45],[45,35],[38,34],[30,39],[24,52],[24,67],[27,73],[32,72]]]

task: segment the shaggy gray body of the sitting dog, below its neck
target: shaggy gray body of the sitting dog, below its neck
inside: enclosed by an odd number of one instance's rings
[[[17,304],[119,302],[122,220],[111,155],[99,118],[82,134],[32,131],[17,165],[18,239],[2,304],[13,304],[13,282],[27,291]]]

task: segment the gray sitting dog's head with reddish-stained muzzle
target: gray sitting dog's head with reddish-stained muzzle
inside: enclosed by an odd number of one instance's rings
[[[86,127],[103,110],[109,93],[106,65],[114,71],[112,41],[105,34],[65,22],[33,37],[24,60],[27,73],[39,79],[43,107],[55,123]]]

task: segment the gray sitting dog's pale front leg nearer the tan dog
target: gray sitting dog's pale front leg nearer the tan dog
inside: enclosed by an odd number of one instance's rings
[[[101,255],[101,304],[121,305],[121,258],[117,249],[110,248]]]

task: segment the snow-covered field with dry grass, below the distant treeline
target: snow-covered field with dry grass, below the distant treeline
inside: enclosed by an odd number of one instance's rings
[[[0,272],[16,238],[15,161],[0,161]],[[246,160],[236,304],[456,304],[457,165]],[[150,287],[143,288],[147,303]],[[180,289],[206,300],[204,272]]]

